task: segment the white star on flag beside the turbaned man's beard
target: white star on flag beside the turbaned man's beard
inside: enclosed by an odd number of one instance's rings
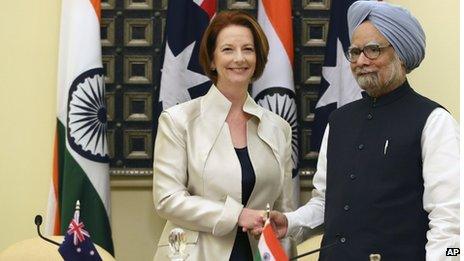
[[[322,76],[329,83],[329,87],[319,99],[316,108],[337,103],[337,108],[360,99],[361,88],[351,73],[350,63],[343,53],[343,46],[337,38],[337,61],[335,67],[322,67]]]

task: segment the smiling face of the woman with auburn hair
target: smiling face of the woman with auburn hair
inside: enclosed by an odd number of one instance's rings
[[[250,29],[230,25],[216,39],[211,68],[218,74],[218,85],[248,85],[255,72],[256,53]]]

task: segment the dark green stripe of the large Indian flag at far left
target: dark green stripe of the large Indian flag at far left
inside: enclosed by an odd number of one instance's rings
[[[72,155],[63,148],[64,127],[58,124],[60,138],[60,194],[59,205],[61,210],[61,233],[64,235],[74,216],[76,201],[80,201],[80,221],[84,222],[85,230],[90,233],[92,241],[106,249],[114,256],[111,227],[100,196],[84,170],[77,164]],[[102,173],[102,175],[105,175]],[[109,175],[107,173],[106,175]]]

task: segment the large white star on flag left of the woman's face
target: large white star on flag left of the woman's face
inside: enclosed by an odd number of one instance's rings
[[[164,87],[160,89],[159,98],[163,102],[163,109],[190,100],[188,89],[209,81],[203,74],[187,68],[194,46],[195,42],[174,56],[169,45],[166,45],[164,67],[161,69],[161,86]]]

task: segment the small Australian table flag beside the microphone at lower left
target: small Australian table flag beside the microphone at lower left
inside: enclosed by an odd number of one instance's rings
[[[74,217],[58,252],[66,261],[101,261],[100,254],[90,240],[89,232],[84,229],[84,223],[79,220],[79,213],[80,207],[77,201]]]

